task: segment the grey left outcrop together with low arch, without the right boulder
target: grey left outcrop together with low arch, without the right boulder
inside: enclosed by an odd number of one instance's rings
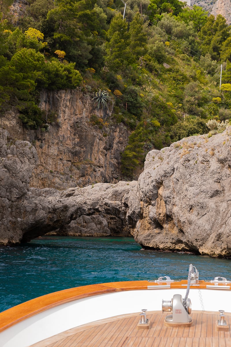
[[[37,161],[34,146],[12,142],[0,128],[0,244],[17,244],[55,230],[69,235],[130,235],[134,224],[127,225],[126,212],[131,192],[137,192],[136,181],[62,192],[30,188]]]

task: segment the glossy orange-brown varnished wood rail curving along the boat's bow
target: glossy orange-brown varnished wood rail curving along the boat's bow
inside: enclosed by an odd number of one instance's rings
[[[1,312],[0,332],[38,313],[41,313],[52,307],[59,306],[74,300],[99,294],[113,293],[117,291],[144,290],[148,289],[148,286],[155,286],[158,288],[159,285],[163,286],[166,284],[166,282],[159,282],[158,284],[151,281],[124,281],[94,284],[89,286],[75,287],[61,291],[56,291],[54,293],[43,295],[35,299],[29,300],[25,303],[19,304],[17,306],[9,308],[6,311]],[[178,282],[168,282],[168,284],[170,284],[171,289],[184,289],[186,288],[187,280],[182,280]],[[192,285],[190,286],[190,288],[207,289],[206,285],[212,286],[214,285],[214,283],[199,281],[198,285]],[[220,289],[222,289],[224,284],[219,283],[218,286],[220,286]],[[163,289],[163,287],[161,289]]]

